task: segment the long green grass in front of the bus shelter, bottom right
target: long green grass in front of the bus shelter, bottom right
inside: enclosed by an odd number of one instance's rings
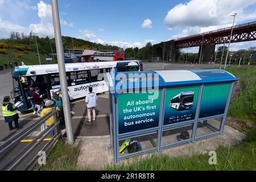
[[[253,171],[256,169],[256,129],[251,130],[247,139],[232,147],[219,147],[216,151],[217,165],[210,165],[210,156],[195,154],[192,157],[152,155],[135,160],[132,164],[121,163],[108,166],[108,171]]]

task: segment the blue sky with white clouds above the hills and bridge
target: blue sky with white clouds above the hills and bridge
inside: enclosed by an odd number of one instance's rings
[[[0,0],[0,38],[11,31],[53,37],[49,0]],[[256,0],[59,0],[64,36],[126,47],[142,47],[256,20]],[[143,24],[144,22],[144,24]],[[254,46],[237,43],[234,50]],[[189,52],[197,48],[190,48]]]

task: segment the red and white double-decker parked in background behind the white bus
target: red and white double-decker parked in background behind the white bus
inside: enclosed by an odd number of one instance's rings
[[[123,60],[125,60],[125,53],[122,51],[99,52],[99,51],[85,50],[84,53],[82,53],[83,62],[123,61]]]

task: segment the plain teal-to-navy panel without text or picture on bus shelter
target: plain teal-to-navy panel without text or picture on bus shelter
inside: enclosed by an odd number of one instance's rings
[[[204,86],[199,118],[224,114],[230,84]]]

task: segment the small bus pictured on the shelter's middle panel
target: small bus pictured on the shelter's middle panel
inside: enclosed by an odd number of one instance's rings
[[[194,94],[195,92],[189,91],[177,94],[177,96],[171,99],[171,107],[179,111],[192,109]]]

